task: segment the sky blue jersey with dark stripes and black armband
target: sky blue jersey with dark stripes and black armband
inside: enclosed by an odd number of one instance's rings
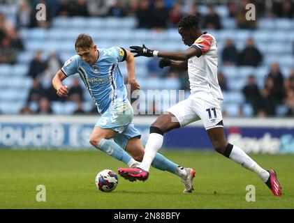
[[[96,102],[98,112],[103,114],[118,100],[127,100],[124,77],[118,63],[126,59],[126,50],[121,47],[97,49],[98,61],[86,63],[75,55],[68,59],[61,70],[66,76],[78,73],[91,97]]]

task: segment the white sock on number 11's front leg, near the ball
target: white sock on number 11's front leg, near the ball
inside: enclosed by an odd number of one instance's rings
[[[149,171],[154,157],[163,144],[163,135],[158,133],[150,133],[147,144],[145,146],[145,154],[141,164],[138,166],[145,171]]]

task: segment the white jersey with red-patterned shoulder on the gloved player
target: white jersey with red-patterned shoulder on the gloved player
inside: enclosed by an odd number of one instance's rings
[[[203,33],[191,47],[198,47],[202,55],[188,60],[188,74],[191,93],[204,91],[223,100],[217,79],[217,46],[214,36]]]

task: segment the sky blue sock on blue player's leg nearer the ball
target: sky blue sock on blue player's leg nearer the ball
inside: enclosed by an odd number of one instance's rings
[[[131,155],[128,155],[115,141],[109,139],[101,139],[97,148],[125,164],[128,164],[132,158]]]

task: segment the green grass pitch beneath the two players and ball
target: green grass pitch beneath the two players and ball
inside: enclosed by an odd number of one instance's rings
[[[261,180],[214,152],[161,151],[170,160],[196,169],[194,192],[183,194],[177,176],[151,169],[149,179],[97,190],[98,171],[117,173],[123,163],[101,151],[0,150],[0,208],[294,208],[294,155],[252,155],[264,168],[277,170],[283,196],[274,197]],[[45,185],[46,201],[36,201],[37,185]],[[256,201],[247,202],[247,185]]]

